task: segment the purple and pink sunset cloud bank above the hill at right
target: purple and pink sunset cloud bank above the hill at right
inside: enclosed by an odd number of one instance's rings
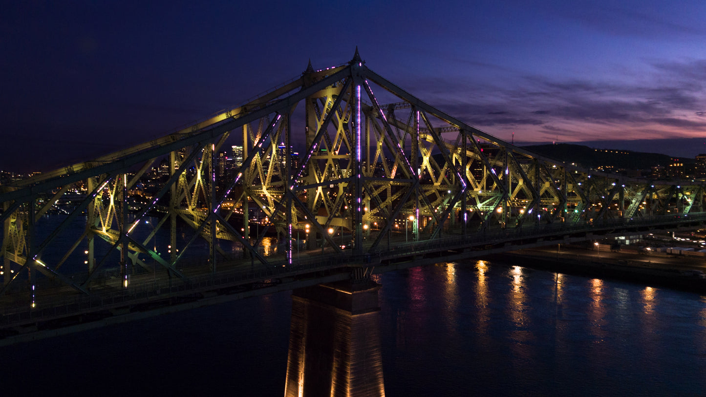
[[[471,80],[477,78],[477,80]],[[647,60],[606,78],[444,75],[409,81],[420,99],[490,135],[510,140],[685,138],[703,135],[706,59]]]

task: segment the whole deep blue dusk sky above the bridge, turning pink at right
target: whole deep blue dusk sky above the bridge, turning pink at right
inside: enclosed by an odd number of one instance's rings
[[[515,142],[706,153],[706,2],[2,1],[0,169],[157,138],[366,65]]]

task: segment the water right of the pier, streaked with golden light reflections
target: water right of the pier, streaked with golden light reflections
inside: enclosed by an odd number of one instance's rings
[[[706,390],[706,298],[694,293],[487,261],[381,283],[390,395]],[[407,326],[389,329],[390,317]]]

